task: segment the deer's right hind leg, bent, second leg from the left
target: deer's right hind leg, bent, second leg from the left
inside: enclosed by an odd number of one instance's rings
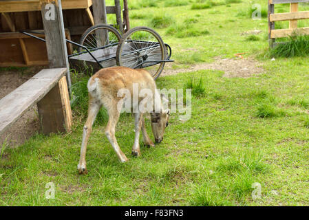
[[[122,103],[120,103],[120,106],[122,106]],[[107,139],[111,143],[111,146],[113,146],[114,151],[116,152],[120,162],[127,162],[128,159],[125,156],[125,154],[121,151],[115,137],[115,128],[120,115],[120,112],[117,109],[117,103],[110,104],[109,108],[107,107],[107,113],[109,115],[109,119],[105,129],[105,135],[107,136]]]

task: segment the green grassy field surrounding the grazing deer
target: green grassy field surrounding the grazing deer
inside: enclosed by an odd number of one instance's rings
[[[204,92],[193,96],[191,119],[182,122],[179,113],[171,115],[164,141],[141,147],[136,158],[131,157],[134,119],[121,115],[116,138],[129,162],[120,164],[105,137],[103,114],[89,140],[87,175],[76,169],[85,108],[74,107],[72,133],[38,134],[19,148],[2,148],[0,205],[307,206],[308,56],[270,61],[266,1],[252,1],[262,5],[261,20],[251,19],[251,3],[244,0],[130,2],[131,25],[154,27],[171,45],[175,63],[170,68],[246,52],[264,72],[226,78],[224,72],[201,69],[158,78],[158,87],[167,89],[186,88],[190,78],[202,78]],[[242,35],[255,29],[262,32]],[[149,120],[147,130],[153,139]],[[45,199],[48,182],[54,183],[55,199]],[[261,186],[257,199],[254,183]]]

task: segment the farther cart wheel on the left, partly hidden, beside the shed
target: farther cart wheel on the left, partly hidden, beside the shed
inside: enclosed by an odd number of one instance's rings
[[[118,45],[120,39],[121,35],[116,28],[102,23],[88,28],[81,36],[79,44],[92,51],[103,46]],[[78,53],[84,50],[82,47],[78,47]]]

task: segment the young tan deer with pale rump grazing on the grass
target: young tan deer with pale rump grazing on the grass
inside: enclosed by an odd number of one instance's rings
[[[119,119],[120,111],[118,106],[122,107],[125,102],[125,97],[118,97],[118,91],[120,89],[128,89],[131,94],[131,100],[133,100],[133,85],[136,83],[138,89],[150,89],[153,94],[152,100],[153,108],[158,109],[158,111],[153,110],[151,115],[151,129],[153,131],[153,136],[157,143],[162,142],[164,130],[168,126],[169,121],[169,109],[164,109],[162,104],[162,96],[158,93],[156,89],[156,83],[151,77],[151,75],[145,69],[131,69],[128,67],[109,67],[105,69],[100,69],[94,76],[92,76],[87,84],[88,95],[89,95],[89,106],[88,106],[88,117],[83,127],[83,142],[81,144],[81,158],[78,163],[78,173],[87,173],[86,168],[86,149],[87,142],[89,140],[89,135],[92,132],[92,125],[96,119],[96,115],[101,107],[107,109],[109,115],[109,120],[105,128],[105,135],[114,148],[116,155],[120,162],[127,162],[128,159],[124,153],[122,153],[116,137],[115,137],[115,127]],[[138,98],[138,104],[143,100],[143,98]],[[132,102],[132,108],[134,103]],[[156,106],[155,106],[156,105]],[[153,142],[150,140],[145,128],[145,119],[143,118],[141,111],[134,113],[135,116],[135,139],[132,148],[132,155],[140,156],[140,129],[142,129],[142,137],[144,144],[146,146],[154,146]]]

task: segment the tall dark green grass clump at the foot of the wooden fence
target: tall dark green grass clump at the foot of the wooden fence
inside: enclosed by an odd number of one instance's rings
[[[270,50],[270,57],[295,57],[309,55],[309,36],[298,35],[288,37],[288,41],[280,43]]]

